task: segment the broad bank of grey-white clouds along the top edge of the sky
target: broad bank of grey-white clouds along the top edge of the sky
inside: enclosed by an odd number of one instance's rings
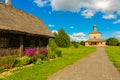
[[[120,15],[120,0],[34,0],[34,2],[40,7],[49,4],[53,11],[79,12],[85,18],[91,18],[98,12],[106,14],[103,16],[105,19]]]

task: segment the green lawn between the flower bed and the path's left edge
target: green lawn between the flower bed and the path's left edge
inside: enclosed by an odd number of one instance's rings
[[[34,65],[29,68],[24,68],[15,71],[13,75],[4,78],[3,80],[46,80],[48,76],[64,68],[67,65],[73,64],[78,59],[87,56],[94,52],[96,48],[80,47],[80,48],[60,48],[62,57],[59,59],[45,62],[41,65]],[[1,79],[0,79],[1,80]]]

